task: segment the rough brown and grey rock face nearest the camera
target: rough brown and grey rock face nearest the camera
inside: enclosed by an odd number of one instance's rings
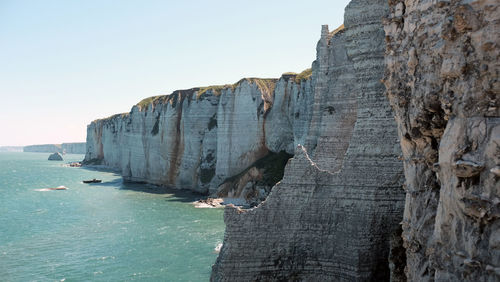
[[[500,3],[389,1],[411,281],[500,279]]]

